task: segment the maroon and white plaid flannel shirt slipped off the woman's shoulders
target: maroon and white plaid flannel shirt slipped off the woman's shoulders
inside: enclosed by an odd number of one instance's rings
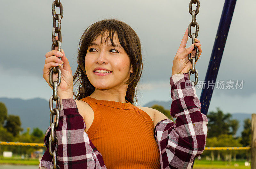
[[[172,104],[170,113],[176,123],[166,119],[157,123],[154,136],[158,143],[161,169],[191,168],[194,158],[203,153],[207,135],[207,117],[201,113],[201,103],[195,87],[186,89],[188,73],[170,78]],[[60,168],[106,168],[102,155],[92,144],[78,113],[74,99],[62,99],[58,138]],[[47,147],[39,168],[50,169],[53,158],[49,153],[50,127],[45,134]],[[53,149],[57,150],[57,147]]]

